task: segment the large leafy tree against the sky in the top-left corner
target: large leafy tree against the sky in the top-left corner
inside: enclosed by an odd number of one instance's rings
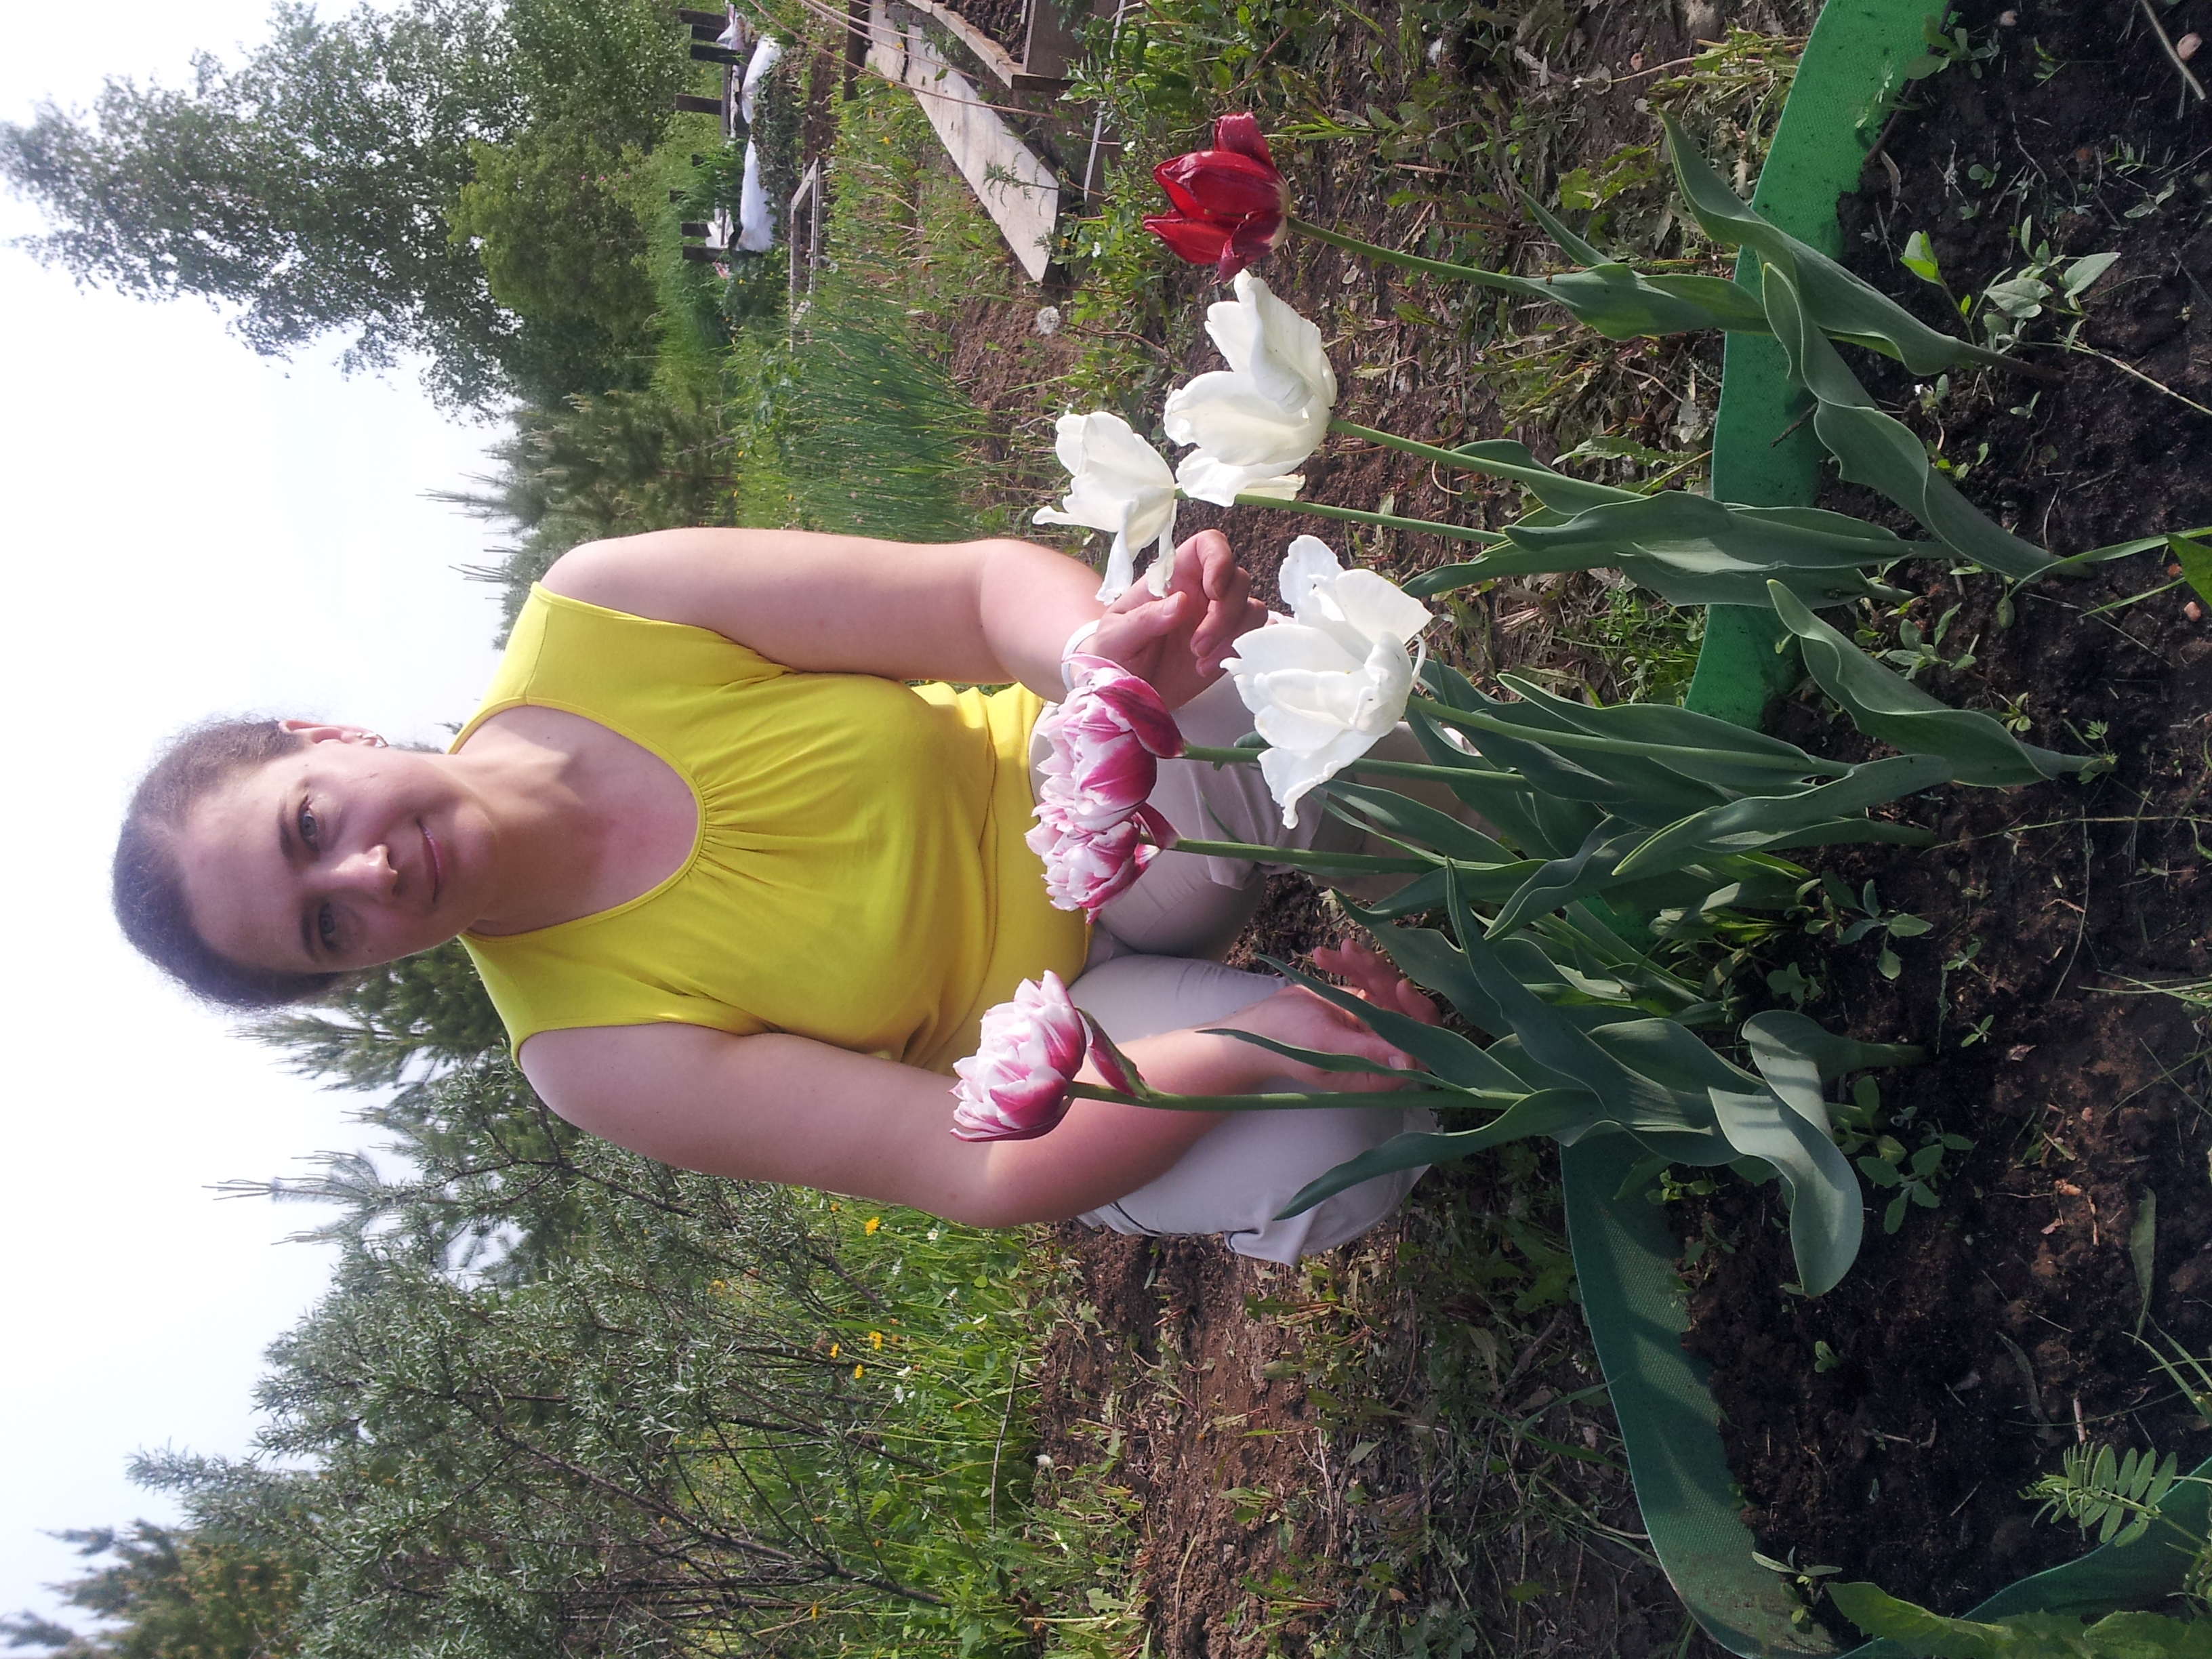
[[[471,144],[562,117],[650,144],[686,60],[646,0],[409,0],[323,20],[281,0],[243,64],[201,53],[188,88],[111,80],[88,115],[0,124],[0,177],[53,230],[33,254],[126,294],[197,294],[283,356],[347,338],[349,369],[429,358],[447,405],[639,383],[602,323],[500,307],[447,208]]]

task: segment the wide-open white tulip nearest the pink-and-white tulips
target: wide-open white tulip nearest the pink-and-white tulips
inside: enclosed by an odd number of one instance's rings
[[[1307,790],[1405,717],[1436,615],[1374,571],[1345,571],[1312,535],[1283,560],[1283,604],[1292,622],[1254,628],[1223,666],[1267,739],[1259,770],[1287,825]]]

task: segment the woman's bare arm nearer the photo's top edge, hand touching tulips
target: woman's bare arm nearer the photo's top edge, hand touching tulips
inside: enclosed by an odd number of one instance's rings
[[[1263,608],[1219,531],[1183,544],[1175,591],[1141,588],[1097,635],[1102,655],[1170,703],[1219,675]],[[1060,697],[1060,650],[1106,611],[1097,577],[1033,542],[876,542],[812,531],[692,529],[586,542],[544,575],[564,597],[684,622],[787,668],[1002,684]]]

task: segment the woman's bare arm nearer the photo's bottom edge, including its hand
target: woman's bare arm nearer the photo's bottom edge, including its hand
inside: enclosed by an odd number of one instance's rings
[[[1267,998],[1225,1024],[1409,1064],[1303,991]],[[1126,1053],[1175,1093],[1248,1093],[1296,1071],[1254,1044],[1197,1031],[1146,1037]],[[732,1037],[686,1024],[542,1031],[522,1044],[522,1071],[577,1128],[664,1164],[849,1192],[984,1228],[1062,1221],[1126,1197],[1219,1121],[1079,1099],[1033,1141],[960,1141],[951,1135],[951,1079],[938,1073],[807,1037]],[[1347,1084],[1360,1079],[1323,1082],[1316,1073],[1310,1082]]]

